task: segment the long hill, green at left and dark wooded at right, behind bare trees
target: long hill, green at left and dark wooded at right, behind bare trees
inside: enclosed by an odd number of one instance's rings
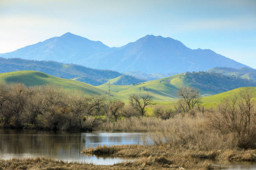
[[[256,82],[217,73],[187,72],[135,85],[112,84],[110,91],[114,93],[113,95],[121,96],[121,100],[128,100],[128,97],[133,94],[145,95],[147,93],[153,95],[155,100],[176,100],[177,91],[182,86],[198,88],[201,95],[215,95],[238,87],[256,86]],[[108,90],[108,83],[97,87]]]

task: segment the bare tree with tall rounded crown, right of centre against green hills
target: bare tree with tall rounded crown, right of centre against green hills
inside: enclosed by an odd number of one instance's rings
[[[177,102],[178,107],[182,108],[184,112],[188,112],[200,104],[200,91],[193,87],[186,86],[179,88],[178,96],[180,97]]]

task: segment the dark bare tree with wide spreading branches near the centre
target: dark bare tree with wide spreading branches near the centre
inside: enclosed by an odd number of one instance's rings
[[[145,96],[138,96],[134,94],[130,97],[130,103],[132,107],[141,114],[141,116],[145,115],[146,106],[156,105],[156,103],[153,102],[153,96],[151,96],[150,94],[147,94]]]

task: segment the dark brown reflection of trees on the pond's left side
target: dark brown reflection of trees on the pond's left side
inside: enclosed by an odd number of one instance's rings
[[[64,131],[1,129],[0,152],[37,153],[44,155],[77,155],[82,150],[80,133]]]

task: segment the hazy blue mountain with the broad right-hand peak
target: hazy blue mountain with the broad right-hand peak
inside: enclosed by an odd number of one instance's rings
[[[136,42],[119,47],[104,59],[105,65],[109,66],[104,68],[120,72],[136,70],[167,73],[208,70],[216,66],[245,66],[212,50],[191,50],[182,42],[154,35],[146,35]]]

